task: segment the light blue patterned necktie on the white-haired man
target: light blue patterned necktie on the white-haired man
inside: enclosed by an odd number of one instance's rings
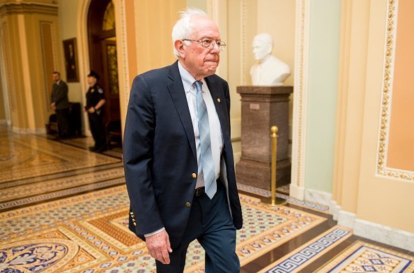
[[[203,170],[204,186],[206,187],[206,194],[208,198],[213,199],[217,191],[217,184],[215,182],[215,171],[213,164],[213,154],[211,153],[210,142],[210,123],[208,122],[208,112],[206,103],[203,100],[203,92],[201,91],[200,81],[194,82],[197,90],[197,113],[199,117],[199,134],[200,134],[200,157],[201,169]]]

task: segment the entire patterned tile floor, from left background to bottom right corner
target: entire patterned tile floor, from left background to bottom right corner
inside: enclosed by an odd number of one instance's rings
[[[90,138],[57,142],[0,126],[0,272],[155,272],[128,228],[121,151],[94,154]],[[413,272],[414,254],[337,226],[328,208],[238,185],[244,226],[240,272]],[[190,245],[185,272],[204,272]]]

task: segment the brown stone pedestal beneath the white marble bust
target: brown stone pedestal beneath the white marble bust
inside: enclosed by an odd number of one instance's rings
[[[289,184],[289,95],[293,87],[237,87],[241,96],[241,158],[236,164],[238,182],[270,190],[272,140],[270,127],[277,132],[277,186]]]

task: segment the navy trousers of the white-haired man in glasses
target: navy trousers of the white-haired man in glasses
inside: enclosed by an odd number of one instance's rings
[[[169,253],[169,265],[155,261],[157,272],[183,272],[185,254],[194,239],[206,251],[207,273],[240,272],[240,261],[236,255],[236,228],[231,220],[226,190],[218,180],[217,193],[212,200],[206,194],[194,196],[183,242]]]

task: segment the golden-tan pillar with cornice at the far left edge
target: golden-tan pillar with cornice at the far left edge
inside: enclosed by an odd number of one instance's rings
[[[0,6],[0,16],[6,38],[1,41],[2,80],[8,88],[11,124],[15,131],[44,131],[49,116],[45,63],[58,67],[57,6],[52,0],[9,2],[13,4]]]

